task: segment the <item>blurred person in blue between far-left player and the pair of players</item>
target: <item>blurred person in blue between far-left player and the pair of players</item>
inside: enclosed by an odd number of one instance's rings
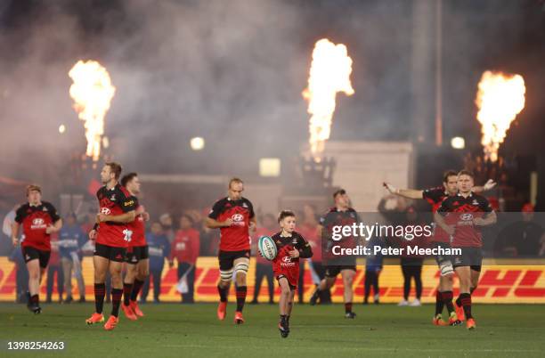
[[[76,214],[70,213],[66,217],[59,232],[59,254],[61,256],[62,274],[64,276],[64,291],[66,292],[65,304],[73,301],[72,298],[72,272],[76,276],[79,302],[85,302],[85,282],[82,273],[83,253],[81,248],[87,242],[87,235],[77,225]]]

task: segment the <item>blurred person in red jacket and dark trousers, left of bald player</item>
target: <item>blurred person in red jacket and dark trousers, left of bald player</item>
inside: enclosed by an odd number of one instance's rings
[[[199,247],[199,232],[193,228],[191,216],[184,214],[180,217],[180,230],[176,232],[175,240],[172,242],[169,259],[171,266],[174,264],[174,258],[178,261],[178,280],[182,280],[183,277],[187,280],[188,291],[182,293],[183,304],[194,302],[193,291]]]

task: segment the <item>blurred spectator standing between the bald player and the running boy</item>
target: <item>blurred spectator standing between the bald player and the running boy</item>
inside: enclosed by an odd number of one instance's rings
[[[255,305],[257,303],[257,297],[259,297],[259,291],[261,290],[261,282],[265,277],[267,279],[269,289],[269,304],[274,304],[274,274],[273,264],[271,261],[265,259],[259,254],[257,248],[257,242],[261,236],[273,236],[275,232],[278,232],[278,224],[273,214],[265,214],[260,220],[261,227],[257,227],[254,234],[254,240],[252,240],[252,251],[256,257],[256,282],[254,284],[254,299],[250,304]]]

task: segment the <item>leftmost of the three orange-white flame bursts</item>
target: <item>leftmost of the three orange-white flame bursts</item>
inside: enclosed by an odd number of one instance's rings
[[[77,61],[70,69],[70,97],[74,100],[77,117],[85,122],[87,139],[86,155],[96,161],[101,155],[104,117],[110,109],[110,102],[116,93],[111,84],[110,74],[97,61]]]

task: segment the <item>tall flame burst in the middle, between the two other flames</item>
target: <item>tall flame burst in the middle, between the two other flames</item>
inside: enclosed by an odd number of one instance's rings
[[[325,142],[329,139],[337,93],[354,94],[351,73],[352,59],[345,45],[335,45],[327,38],[316,42],[308,87],[303,91],[303,97],[308,101],[308,113],[311,114],[309,143],[317,161],[321,159]]]

